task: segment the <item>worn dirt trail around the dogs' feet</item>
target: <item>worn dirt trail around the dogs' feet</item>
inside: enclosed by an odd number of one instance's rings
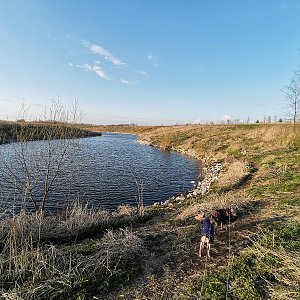
[[[137,228],[136,234],[143,238],[149,250],[147,274],[162,275],[166,266],[175,273],[196,274],[211,273],[217,268],[226,266],[228,258],[234,258],[239,252],[251,243],[250,237],[259,231],[259,224],[270,218],[266,212],[270,211],[263,206],[251,213],[240,215],[229,229],[217,229],[215,242],[211,250],[211,258],[198,257],[199,234],[197,238],[187,241],[186,232],[195,228],[195,225],[172,227],[168,221],[175,218],[177,211],[165,210],[146,224]],[[280,217],[280,216],[275,216]],[[200,231],[200,230],[199,230]]]

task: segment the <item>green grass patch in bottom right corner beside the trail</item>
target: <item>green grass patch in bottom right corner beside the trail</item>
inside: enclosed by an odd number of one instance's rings
[[[291,275],[293,270],[285,265],[285,259],[281,257],[288,253],[293,256],[294,251],[299,251],[299,237],[299,224],[288,226],[273,224],[273,227],[269,227],[268,233],[258,238],[251,248],[231,263],[229,268],[214,272],[212,275],[204,277],[199,275],[188,279],[183,285],[184,293],[203,300],[267,299],[270,287],[268,283],[287,288],[286,282],[288,280],[293,282],[293,274]],[[285,271],[285,268],[289,271]],[[280,274],[282,277],[278,274],[275,276],[277,270],[286,274]],[[294,290],[297,295],[297,292],[300,292],[300,283],[293,283],[292,288],[288,288]]]

